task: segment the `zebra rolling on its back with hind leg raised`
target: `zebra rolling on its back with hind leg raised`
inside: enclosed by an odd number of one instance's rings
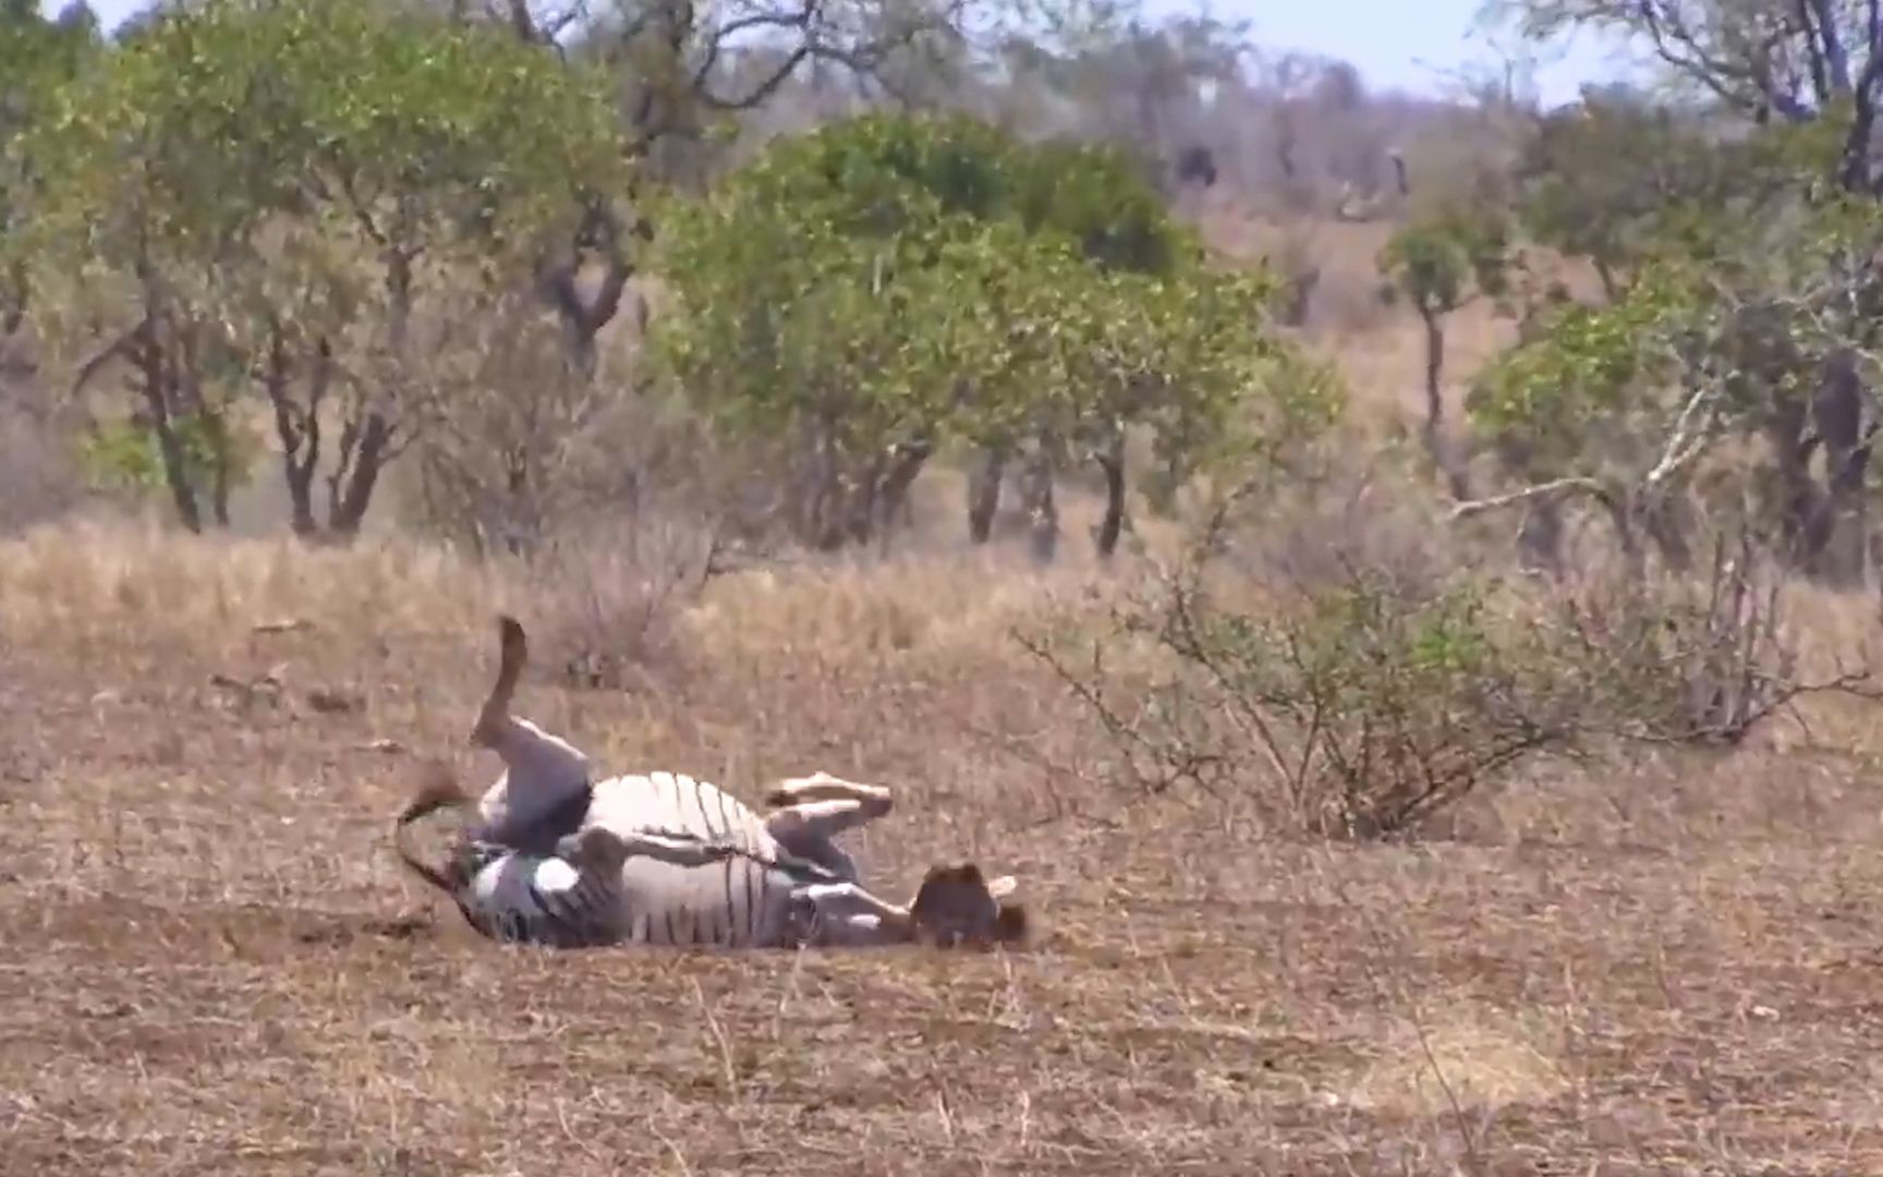
[[[1019,940],[1026,915],[1000,902],[1011,876],[936,866],[908,906],[862,887],[836,834],[891,810],[887,789],[817,772],[781,782],[759,817],[710,782],[650,772],[593,782],[567,740],[510,714],[527,659],[523,627],[499,620],[501,661],[471,744],[505,774],[480,802],[443,770],[399,815],[399,857],[495,940],[555,947],[714,943],[723,947],[879,945]],[[475,810],[452,859],[435,868],[407,842],[412,821]]]

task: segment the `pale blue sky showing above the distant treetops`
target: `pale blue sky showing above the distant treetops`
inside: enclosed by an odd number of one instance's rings
[[[107,26],[143,8],[145,0],[92,0]],[[1448,70],[1497,60],[1489,41],[1473,28],[1480,0],[1213,0],[1222,19],[1250,21],[1250,38],[1263,49],[1301,49],[1354,62],[1373,89],[1420,94],[1444,92]],[[56,9],[60,0],[45,0]],[[1154,15],[1192,11],[1196,0],[1147,0]],[[1537,85],[1546,104],[1576,96],[1584,81],[1610,79],[1619,66],[1593,41],[1574,43],[1559,60],[1538,66]]]

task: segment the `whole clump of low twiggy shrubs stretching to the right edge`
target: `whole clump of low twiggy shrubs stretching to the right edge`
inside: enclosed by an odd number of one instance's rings
[[[1371,542],[1386,529],[1254,561],[1222,518],[1100,633],[1021,642],[1126,776],[1277,830],[1416,834],[1537,757],[1734,746],[1802,695],[1874,697],[1866,670],[1796,672],[1781,582],[1746,546],[1710,578],[1561,588]]]

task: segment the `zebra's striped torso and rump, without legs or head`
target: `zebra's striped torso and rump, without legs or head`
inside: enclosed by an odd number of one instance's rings
[[[473,927],[555,947],[787,947],[808,932],[812,913],[800,889],[825,878],[791,859],[751,808],[712,782],[674,772],[597,782],[586,814],[550,838],[586,827],[684,832],[740,855],[704,866],[636,855],[618,878],[593,878],[535,847],[473,842],[461,859],[469,885],[459,900]]]

